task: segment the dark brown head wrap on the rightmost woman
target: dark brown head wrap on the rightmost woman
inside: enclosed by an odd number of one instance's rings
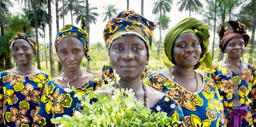
[[[229,24],[231,25],[232,28],[229,28],[223,36],[223,39],[221,40],[219,44],[219,48],[221,52],[224,52],[224,49],[227,46],[227,43],[234,39],[234,38],[241,38],[244,40],[244,46],[246,46],[249,42],[250,36],[246,33],[244,30],[245,25],[241,24],[237,21],[229,21]]]

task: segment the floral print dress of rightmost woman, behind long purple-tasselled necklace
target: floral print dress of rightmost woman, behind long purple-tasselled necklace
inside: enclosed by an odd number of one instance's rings
[[[207,75],[212,78],[216,83],[221,99],[224,105],[224,121],[226,125],[230,123],[230,117],[233,113],[233,100],[234,100],[234,86],[231,79],[230,73],[228,71],[227,65],[223,62],[217,62],[214,64],[215,72],[207,73]],[[253,123],[256,123],[255,114],[256,104],[254,103],[256,99],[256,68],[253,65],[247,65],[247,67],[242,70],[240,82],[238,86],[239,102],[240,102],[240,118],[241,127],[250,127]],[[237,83],[239,75],[233,73],[231,75]],[[241,109],[243,108],[243,109]],[[243,113],[242,113],[243,110]]]

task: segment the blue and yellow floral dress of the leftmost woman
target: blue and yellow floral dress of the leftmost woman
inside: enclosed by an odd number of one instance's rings
[[[40,127],[33,122],[44,86],[51,76],[45,72],[19,76],[0,73],[0,122],[5,127]]]

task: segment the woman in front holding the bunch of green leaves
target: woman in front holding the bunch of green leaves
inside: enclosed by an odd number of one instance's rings
[[[131,88],[139,102],[145,102],[153,112],[167,112],[180,121],[180,126],[185,126],[182,111],[178,104],[141,81],[141,73],[148,65],[149,49],[153,40],[153,22],[146,20],[134,11],[122,11],[115,18],[109,20],[103,32],[105,43],[108,47],[110,63],[119,74],[119,85],[115,81],[113,87]],[[108,89],[109,84],[96,90],[98,94],[112,94]],[[95,100],[95,99],[94,99]],[[165,108],[166,107],[166,108]],[[82,109],[79,104],[78,109]],[[179,125],[172,123],[172,127]]]

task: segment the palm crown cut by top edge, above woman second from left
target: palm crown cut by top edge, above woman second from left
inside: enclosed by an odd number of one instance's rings
[[[84,0],[64,0],[64,6],[60,7],[59,11],[61,11],[60,15],[67,15],[67,12],[70,11],[71,14],[71,24],[73,25],[73,12],[77,14],[84,6],[80,4],[84,3]],[[64,12],[63,12],[64,8]],[[64,18],[63,18],[64,20]]]

